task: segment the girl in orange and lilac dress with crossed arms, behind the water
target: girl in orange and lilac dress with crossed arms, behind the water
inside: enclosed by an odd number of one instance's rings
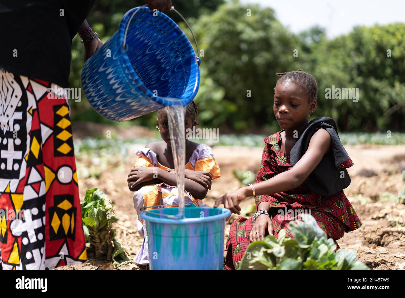
[[[184,119],[186,133],[192,126],[197,125],[197,113],[197,105],[192,101],[187,106]],[[133,201],[138,214],[137,228],[143,236],[142,247],[135,257],[135,263],[139,268],[145,269],[149,264],[149,256],[145,221],[139,217],[141,208],[179,203],[166,108],[158,111],[156,121],[163,141],[137,149],[136,162],[128,174],[128,187],[135,191]],[[220,167],[209,146],[192,142],[187,137],[185,143],[185,160],[188,161],[185,164],[185,204],[205,206],[203,199],[208,189],[211,189],[211,180],[221,176]]]

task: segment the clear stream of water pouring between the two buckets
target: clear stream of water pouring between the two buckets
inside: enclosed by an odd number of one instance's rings
[[[167,107],[170,142],[175,164],[177,189],[179,190],[179,217],[184,217],[184,167],[185,167],[185,107],[171,105]]]

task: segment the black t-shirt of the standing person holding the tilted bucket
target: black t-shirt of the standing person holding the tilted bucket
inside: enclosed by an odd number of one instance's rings
[[[0,0],[0,69],[68,87],[72,39],[95,0]]]

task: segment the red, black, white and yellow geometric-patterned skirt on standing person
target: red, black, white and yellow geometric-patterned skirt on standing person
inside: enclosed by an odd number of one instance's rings
[[[0,71],[2,270],[53,269],[87,259],[70,108],[53,88]]]

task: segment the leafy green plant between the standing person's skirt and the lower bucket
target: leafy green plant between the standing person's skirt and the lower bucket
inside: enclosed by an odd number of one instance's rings
[[[100,189],[87,190],[81,215],[86,242],[94,247],[96,257],[107,255],[107,260],[113,260],[113,265],[121,266],[131,262],[125,247],[115,239],[115,229],[112,224],[118,221],[113,204]]]

